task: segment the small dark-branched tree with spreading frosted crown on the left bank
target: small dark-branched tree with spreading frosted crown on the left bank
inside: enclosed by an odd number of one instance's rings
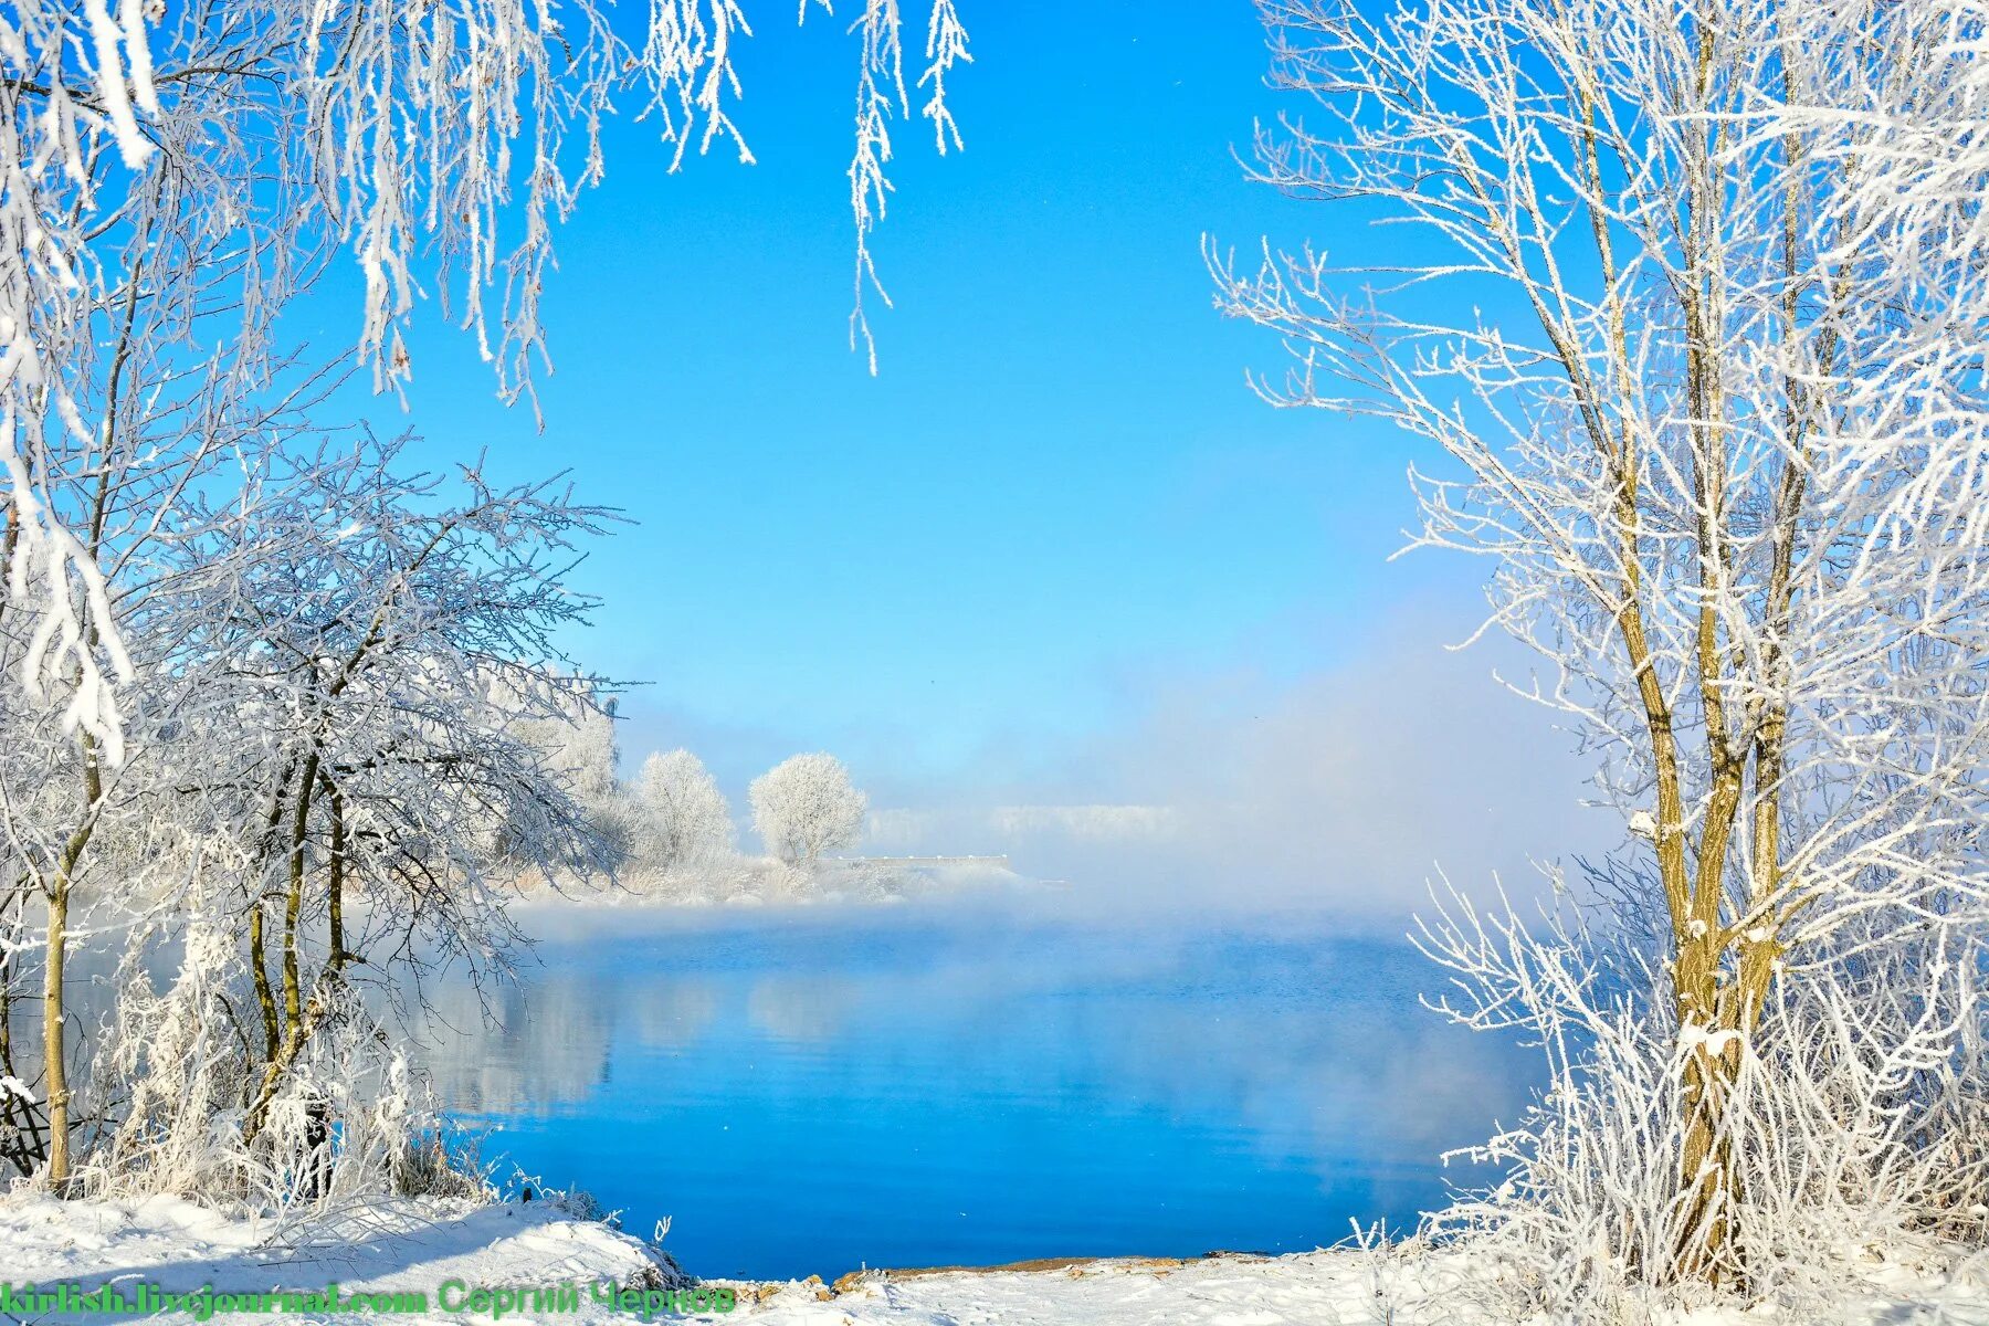
[[[559,584],[561,557],[603,513],[475,471],[406,475],[398,453],[312,455],[286,477],[243,531],[267,553],[229,584],[239,610],[213,638],[209,682],[247,710],[245,753],[215,771],[253,789],[237,799],[259,883],[245,901],[261,1010],[249,1139],[334,1016],[350,960],[487,962],[511,936],[517,869],[605,865],[571,775],[513,732],[533,696],[555,720],[593,704],[591,686],[549,696],[539,682],[559,658],[551,632],[589,610]],[[346,911],[358,897],[362,922]]]

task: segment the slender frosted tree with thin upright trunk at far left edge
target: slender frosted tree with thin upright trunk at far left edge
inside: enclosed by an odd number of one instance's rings
[[[175,352],[201,308],[239,288],[243,254],[225,237],[163,235],[135,225],[103,254],[107,308],[74,364],[93,366],[91,431],[48,437],[60,463],[36,471],[32,503],[0,499],[0,539],[10,586],[0,598],[0,670],[26,680],[34,704],[0,706],[0,1026],[40,970],[40,1068],[0,1034],[0,1127],[24,1169],[68,1171],[70,1048],[64,964],[88,914],[117,895],[129,909],[153,903],[181,841],[161,751],[211,718],[201,692],[195,622],[211,598],[191,575],[241,571],[223,551],[247,509],[263,457],[304,429],[302,410],[322,384],[265,360],[269,390],[243,394],[243,366]],[[167,294],[171,290],[171,294]],[[255,318],[243,320],[253,334]],[[32,374],[16,342],[6,372]],[[82,410],[84,406],[80,406]],[[20,425],[20,415],[8,425]],[[187,495],[241,491],[237,503]],[[76,579],[24,553],[50,521],[58,541],[88,565]],[[64,555],[68,557],[68,553]],[[115,632],[105,626],[117,622]],[[103,668],[125,678],[111,700]],[[129,918],[129,916],[127,916]],[[34,1083],[28,1089],[22,1083]]]

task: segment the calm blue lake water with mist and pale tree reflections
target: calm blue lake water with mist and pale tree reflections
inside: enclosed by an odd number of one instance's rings
[[[1526,1060],[1404,944],[937,909],[535,914],[430,1068],[505,1153],[688,1268],[1295,1250],[1442,1201]],[[1448,1175],[1456,1181],[1460,1175]]]

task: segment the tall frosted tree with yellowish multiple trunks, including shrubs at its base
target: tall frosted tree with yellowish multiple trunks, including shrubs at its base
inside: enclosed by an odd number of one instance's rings
[[[1492,559],[1643,839],[1607,940],[1432,934],[1466,1016],[1555,1052],[1502,1143],[1532,1203],[1486,1219],[1557,1231],[1567,1286],[1979,1219],[1985,12],[1261,10],[1311,115],[1261,177],[1339,241],[1211,250],[1219,304],[1295,356],[1265,396],[1446,457],[1420,543]]]

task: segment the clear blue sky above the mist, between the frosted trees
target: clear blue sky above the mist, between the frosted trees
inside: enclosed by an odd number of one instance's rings
[[[547,300],[543,433],[440,316],[414,342],[438,461],[571,469],[636,521],[577,577],[605,608],[575,648],[646,684],[625,755],[688,744],[734,791],[825,747],[885,803],[1126,799],[1086,751],[1183,688],[1247,712],[1402,604],[1474,624],[1478,567],[1384,565],[1410,447],[1267,408],[1243,372],[1277,346],[1211,308],[1203,233],[1333,239],[1233,155],[1281,105],[1253,6],[961,12],[967,151],[899,129],[879,378],[847,346],[853,48],[790,6],[754,10],[740,58],[758,165],[670,177],[642,125],[611,133]]]

